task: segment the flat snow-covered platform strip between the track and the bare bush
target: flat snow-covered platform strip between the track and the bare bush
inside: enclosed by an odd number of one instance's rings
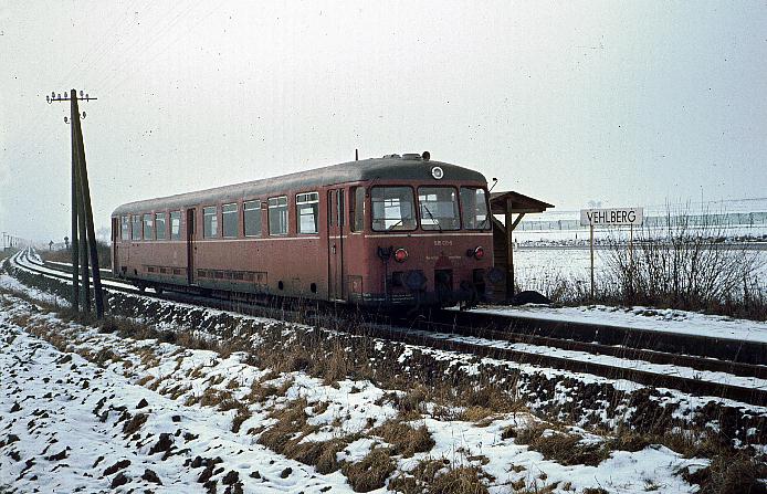
[[[707,336],[711,338],[767,343],[767,323],[735,319],[726,316],[712,316],[671,308],[655,309],[639,306],[627,308],[606,305],[580,307],[524,305],[517,307],[480,307],[474,311],[514,317],[635,327],[638,329],[662,333],[680,333],[685,335]]]

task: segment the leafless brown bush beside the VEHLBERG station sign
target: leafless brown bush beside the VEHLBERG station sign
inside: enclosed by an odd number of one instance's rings
[[[757,278],[759,252],[727,243],[724,214],[666,210],[662,224],[643,225],[633,249],[612,237],[603,254],[601,297],[630,305],[767,318]]]

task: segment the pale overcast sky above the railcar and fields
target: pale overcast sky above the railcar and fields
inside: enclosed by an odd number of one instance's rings
[[[0,229],[389,153],[577,209],[767,196],[767,2],[0,0]]]

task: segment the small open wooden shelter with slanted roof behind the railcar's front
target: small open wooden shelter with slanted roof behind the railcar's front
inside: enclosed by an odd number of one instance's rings
[[[505,290],[498,287],[495,298],[508,301],[514,296],[514,242],[512,232],[527,213],[540,213],[554,208],[548,202],[533,199],[513,190],[507,192],[491,192],[490,209],[493,214],[493,256],[496,267],[506,273]],[[502,223],[495,216],[503,216]],[[516,218],[514,218],[516,214]],[[501,292],[501,293],[497,293]]]

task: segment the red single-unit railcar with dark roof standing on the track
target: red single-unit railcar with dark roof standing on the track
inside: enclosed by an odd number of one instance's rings
[[[360,305],[455,305],[493,269],[485,178],[390,155],[130,202],[113,269],[139,287]]]

